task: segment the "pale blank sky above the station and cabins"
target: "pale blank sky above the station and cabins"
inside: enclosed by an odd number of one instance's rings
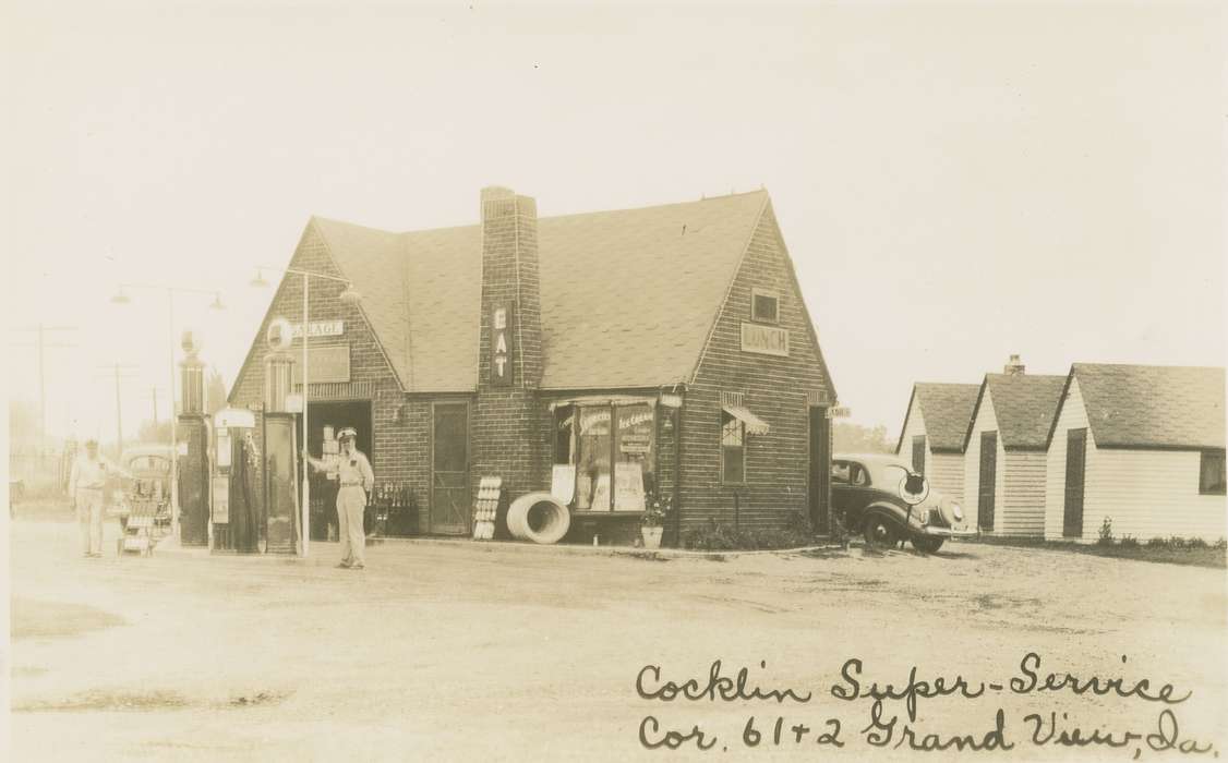
[[[311,215],[478,222],[769,190],[851,421],[1018,353],[1223,366],[1216,4],[9,2],[12,399],[52,434],[235,379]],[[111,297],[130,288],[130,304]],[[168,304],[166,287],[176,292]],[[216,292],[226,309],[208,308]],[[168,326],[168,316],[173,324]]]

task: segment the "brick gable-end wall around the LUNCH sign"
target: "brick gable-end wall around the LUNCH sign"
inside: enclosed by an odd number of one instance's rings
[[[790,332],[790,356],[742,351],[742,323],[750,320],[752,288],[779,294],[779,326]],[[770,424],[763,435],[747,435],[747,483],[738,486],[742,526],[785,526],[793,512],[808,513],[808,390],[825,390],[829,380],[809,318],[796,286],[769,207],[752,237],[745,259],[717,319],[707,350],[683,408],[683,531],[710,518],[732,523],[733,486],[721,483],[721,393],[743,393],[745,407]]]

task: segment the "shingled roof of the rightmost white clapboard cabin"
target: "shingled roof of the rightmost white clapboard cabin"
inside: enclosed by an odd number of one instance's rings
[[[1224,447],[1223,368],[1074,363],[1070,378],[1098,448]]]

